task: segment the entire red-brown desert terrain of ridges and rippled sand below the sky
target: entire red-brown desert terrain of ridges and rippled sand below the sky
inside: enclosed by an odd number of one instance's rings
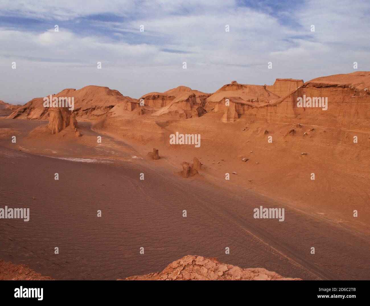
[[[30,218],[1,220],[0,275],[369,279],[369,86],[358,71],[1,101],[0,207]]]

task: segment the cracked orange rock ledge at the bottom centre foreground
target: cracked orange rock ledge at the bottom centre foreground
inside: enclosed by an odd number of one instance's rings
[[[118,279],[123,280],[123,279]],[[188,255],[170,263],[162,272],[127,277],[126,280],[302,280],[283,277],[262,268],[242,269],[217,258]]]

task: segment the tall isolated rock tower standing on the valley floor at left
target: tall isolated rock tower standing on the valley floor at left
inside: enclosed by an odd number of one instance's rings
[[[51,134],[59,133],[67,126],[77,132],[77,120],[74,113],[68,110],[68,107],[50,107],[48,128],[51,130]]]

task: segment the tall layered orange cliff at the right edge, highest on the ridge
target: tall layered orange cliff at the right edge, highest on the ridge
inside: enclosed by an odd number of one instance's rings
[[[320,77],[304,83],[286,97],[265,107],[255,107],[246,114],[268,122],[314,124],[347,130],[370,129],[370,72],[359,71]],[[323,107],[298,107],[298,98],[327,98]]]

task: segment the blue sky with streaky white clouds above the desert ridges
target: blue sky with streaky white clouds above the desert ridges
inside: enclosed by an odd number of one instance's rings
[[[0,100],[12,104],[88,85],[139,98],[369,70],[369,0],[0,1]]]

